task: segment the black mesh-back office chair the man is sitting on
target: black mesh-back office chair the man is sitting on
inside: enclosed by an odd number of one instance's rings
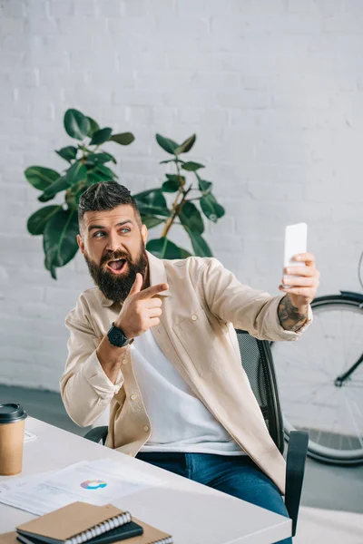
[[[280,409],[279,390],[270,350],[270,342],[257,340],[247,331],[236,330],[240,356],[250,385],[263,414],[270,436],[281,453],[284,452],[284,432]],[[95,427],[84,436],[93,442],[105,442],[108,428]],[[308,451],[308,432],[294,431],[289,434],[287,453],[285,505],[292,520],[292,536],[295,536],[299,515],[299,503]]]

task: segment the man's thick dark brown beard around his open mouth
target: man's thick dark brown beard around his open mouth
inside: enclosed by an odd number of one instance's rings
[[[121,275],[113,274],[107,269],[107,263],[110,260],[117,258],[123,258],[127,262],[126,266],[128,267],[128,270]],[[123,253],[123,251],[108,251],[103,255],[100,265],[97,265],[85,252],[84,259],[88,265],[94,283],[100,291],[102,291],[103,295],[106,298],[113,300],[113,302],[121,303],[123,303],[125,298],[129,295],[136,279],[136,274],[140,272],[144,278],[148,266],[147,254],[143,242],[139,256],[136,257],[134,262],[131,260],[131,257]]]

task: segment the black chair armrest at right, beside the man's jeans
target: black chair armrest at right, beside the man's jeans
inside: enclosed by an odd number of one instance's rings
[[[308,452],[309,433],[292,431],[289,433],[289,448],[286,463],[285,506],[292,520],[292,536],[295,536],[298,523],[302,482],[304,481],[305,461]]]

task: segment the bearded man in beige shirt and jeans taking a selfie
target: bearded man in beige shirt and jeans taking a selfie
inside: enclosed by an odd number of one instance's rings
[[[109,406],[107,446],[287,516],[285,461],[234,329],[299,339],[319,285],[314,256],[297,257],[306,266],[282,278],[282,296],[241,284],[214,257],[154,257],[135,200],[115,181],[83,193],[79,227],[96,287],[65,321],[70,417],[91,425]]]

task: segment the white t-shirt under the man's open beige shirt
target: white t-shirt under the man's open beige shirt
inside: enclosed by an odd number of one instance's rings
[[[245,454],[163,355],[150,329],[134,339],[131,350],[133,372],[152,423],[141,452]]]

